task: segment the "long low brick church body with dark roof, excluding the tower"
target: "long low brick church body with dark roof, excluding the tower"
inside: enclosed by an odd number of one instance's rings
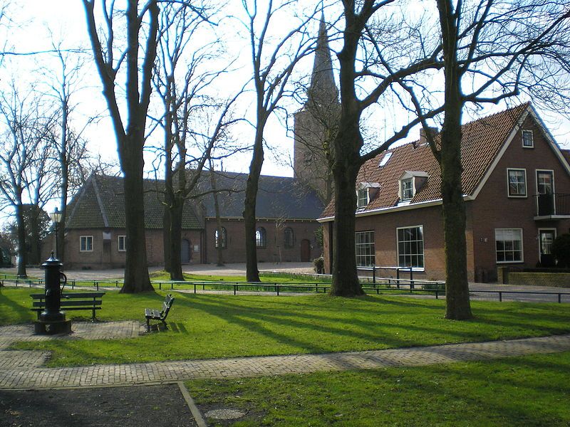
[[[244,263],[244,189],[247,174],[214,172],[219,193],[224,262]],[[211,189],[204,172],[200,191]],[[147,262],[164,263],[160,180],[145,180],[145,227]],[[257,197],[259,262],[309,261],[321,255],[315,230],[323,206],[314,191],[293,178],[261,176]],[[189,200],[182,218],[183,264],[214,263],[217,231],[214,196],[209,193]],[[51,251],[51,236],[44,257]],[[65,238],[66,268],[122,268],[125,263],[125,211],[123,179],[92,175],[68,205]]]

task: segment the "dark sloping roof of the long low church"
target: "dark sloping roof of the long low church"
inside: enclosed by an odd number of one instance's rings
[[[210,172],[202,172],[196,200],[188,199],[182,216],[183,229],[204,228],[204,216],[214,217],[214,196]],[[247,174],[214,172],[222,218],[242,218]],[[145,228],[162,229],[164,181],[145,179]],[[204,194],[205,193],[205,194]],[[202,206],[203,210],[199,207]],[[120,176],[90,176],[68,205],[66,228],[125,228],[125,198]],[[259,177],[257,218],[318,218],[323,205],[314,191],[305,189],[296,179],[283,176]]]

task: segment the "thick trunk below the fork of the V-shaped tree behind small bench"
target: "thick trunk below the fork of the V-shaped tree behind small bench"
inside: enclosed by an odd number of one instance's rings
[[[142,139],[142,135],[140,137]],[[151,291],[154,288],[150,284],[147,266],[142,149],[140,148],[140,142],[137,141],[128,141],[123,147],[125,153],[121,156],[121,166],[125,174],[123,183],[127,253],[125,258],[125,282],[120,292]]]

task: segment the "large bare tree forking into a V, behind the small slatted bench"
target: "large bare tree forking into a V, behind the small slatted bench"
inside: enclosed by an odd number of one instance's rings
[[[100,4],[103,9],[105,36],[100,36],[95,20],[95,3]],[[124,175],[127,253],[125,280],[120,291],[153,290],[147,268],[142,149],[145,145],[147,111],[152,91],[152,70],[157,51],[160,12],[158,1],[128,0],[127,9],[123,13],[115,10],[114,1],[108,4],[106,0],[100,2],[83,0],[83,6],[86,11],[91,49],[103,84],[103,96],[113,122]],[[122,21],[121,17],[124,17]],[[119,24],[125,26],[126,46],[118,53],[115,46],[115,30]],[[141,45],[144,45],[144,48],[140,48]],[[124,74],[121,73],[123,68],[126,68]],[[118,83],[120,76],[125,78],[125,113],[121,113],[123,105],[120,104],[117,93],[121,88]]]

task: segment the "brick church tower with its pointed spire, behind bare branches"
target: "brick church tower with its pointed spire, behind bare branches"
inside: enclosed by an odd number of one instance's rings
[[[331,49],[324,16],[318,27],[315,60],[305,105],[294,115],[294,174],[314,189],[323,204],[333,195],[328,157],[336,135],[341,106],[334,83]]]

